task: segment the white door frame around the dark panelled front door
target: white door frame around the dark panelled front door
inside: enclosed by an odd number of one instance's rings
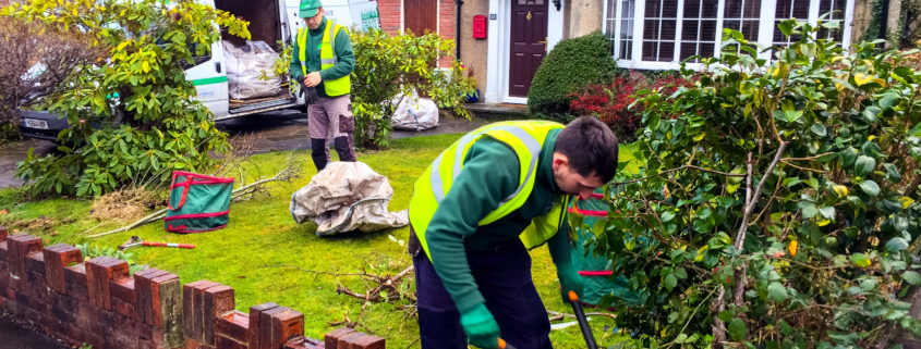
[[[487,103],[525,104],[528,98],[509,97],[509,42],[511,38],[511,2],[516,0],[489,0],[489,42],[486,59]],[[557,11],[552,0],[547,3],[547,52],[562,39],[563,8]],[[492,20],[492,15],[496,20]],[[546,58],[546,57],[545,57]]]

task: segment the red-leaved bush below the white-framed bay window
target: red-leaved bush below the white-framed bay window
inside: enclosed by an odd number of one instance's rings
[[[608,125],[620,141],[637,139],[642,116],[641,105],[631,105],[635,101],[634,90],[649,88],[663,95],[674,94],[680,86],[690,86],[681,77],[663,76],[654,80],[644,78],[615,77],[608,85],[589,85],[582,94],[570,94],[572,101],[569,109],[575,114],[594,115]]]

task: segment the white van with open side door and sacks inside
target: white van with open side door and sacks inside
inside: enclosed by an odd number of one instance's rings
[[[300,0],[198,1],[250,22],[251,40],[265,41],[276,52],[282,52],[284,45],[291,45],[298,30],[305,26],[304,21],[298,17]],[[376,15],[376,0],[324,0],[323,2],[327,17],[347,27],[351,27],[353,23],[350,11],[352,3],[354,3],[352,4],[353,8],[362,9],[362,11],[373,7]],[[221,39],[211,45],[210,55],[196,59],[196,64],[185,70],[185,78],[192,82],[198,92],[195,99],[211,111],[215,120],[304,105],[304,98],[296,94],[296,86],[293,89],[287,87],[289,82],[287,76],[280,79],[280,84],[286,86],[282,86],[280,92],[276,96],[249,100],[231,99],[223,41],[229,41],[234,46],[241,46],[245,42],[244,39],[222,33]],[[279,41],[282,43],[279,45]],[[20,129],[23,136],[28,138],[56,140],[58,133],[68,127],[66,119],[47,112],[24,111],[21,120]]]

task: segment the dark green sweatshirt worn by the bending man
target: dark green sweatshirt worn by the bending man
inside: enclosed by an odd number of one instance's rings
[[[485,302],[470,272],[465,250],[482,251],[518,239],[531,219],[548,213],[565,195],[557,188],[553,171],[554,145],[559,132],[553,129],[547,135],[537,160],[534,189],[520,209],[492,224],[477,225],[514,192],[519,183],[518,155],[510,147],[488,137],[470,147],[463,170],[438,204],[425,239],[432,260],[436,261],[435,271],[461,313]],[[557,265],[570,262],[568,234],[568,224],[562,224],[547,241]]]

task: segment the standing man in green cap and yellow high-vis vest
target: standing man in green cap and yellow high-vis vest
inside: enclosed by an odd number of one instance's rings
[[[291,76],[301,88],[315,88],[318,100],[307,107],[311,158],[319,172],[329,162],[332,144],[340,161],[355,161],[352,133],[352,90],[349,76],[355,53],[349,30],[324,16],[319,0],[301,0],[299,16],[307,23],[298,30],[291,54]]]

